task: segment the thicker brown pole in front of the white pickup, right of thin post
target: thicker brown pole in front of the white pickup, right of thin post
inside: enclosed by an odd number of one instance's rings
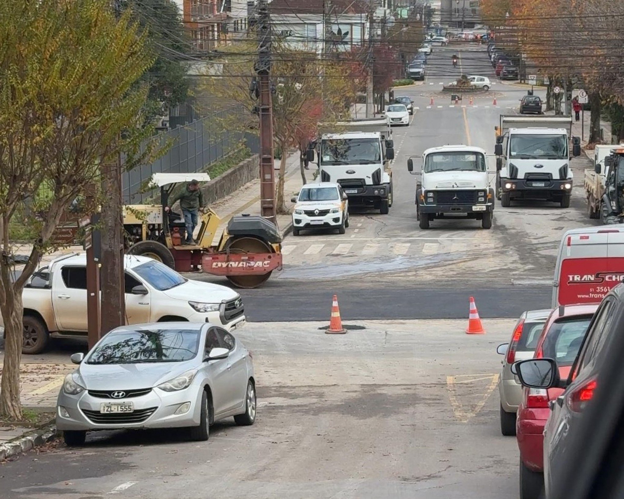
[[[101,336],[125,324],[124,263],[122,261],[122,195],[119,164],[103,168],[102,216],[102,268],[100,289],[102,300]]]

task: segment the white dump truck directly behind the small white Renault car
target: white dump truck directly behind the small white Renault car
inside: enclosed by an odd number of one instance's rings
[[[349,206],[367,206],[387,214],[392,206],[394,143],[388,118],[320,124],[318,168],[321,182],[340,184]],[[308,159],[314,160],[313,150]]]

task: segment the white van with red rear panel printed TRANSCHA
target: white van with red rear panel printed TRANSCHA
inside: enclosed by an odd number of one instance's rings
[[[568,230],[559,246],[552,308],[600,303],[624,281],[624,225]]]

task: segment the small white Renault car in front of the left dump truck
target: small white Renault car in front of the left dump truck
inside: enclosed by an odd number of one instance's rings
[[[349,226],[349,200],[338,183],[306,183],[292,198],[293,236],[304,229],[338,229],[344,234]]]

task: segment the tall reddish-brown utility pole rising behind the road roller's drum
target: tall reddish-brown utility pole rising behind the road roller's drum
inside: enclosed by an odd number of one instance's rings
[[[271,103],[271,22],[267,0],[258,0],[258,62],[260,89],[260,214],[277,226],[273,167],[273,104]],[[285,154],[282,151],[282,154]]]

